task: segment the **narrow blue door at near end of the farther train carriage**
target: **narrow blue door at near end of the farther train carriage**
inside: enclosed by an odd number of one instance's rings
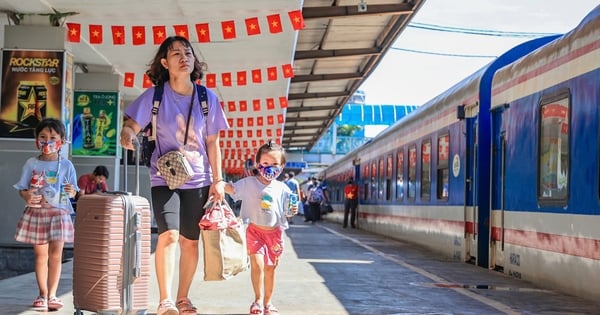
[[[465,200],[464,200],[464,241],[465,260],[475,264],[477,257],[477,119],[465,119]]]

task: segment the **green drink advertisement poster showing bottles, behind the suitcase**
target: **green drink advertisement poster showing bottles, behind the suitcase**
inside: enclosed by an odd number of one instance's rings
[[[118,92],[75,91],[73,156],[116,156]]]

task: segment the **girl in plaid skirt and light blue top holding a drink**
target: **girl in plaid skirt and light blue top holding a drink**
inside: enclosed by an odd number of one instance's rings
[[[62,159],[65,141],[62,121],[45,118],[35,128],[40,155],[29,158],[15,187],[26,207],[15,233],[15,240],[32,244],[35,277],[39,288],[33,307],[38,311],[58,310],[63,302],[56,297],[65,242],[74,240],[70,198],[79,190],[73,163]]]

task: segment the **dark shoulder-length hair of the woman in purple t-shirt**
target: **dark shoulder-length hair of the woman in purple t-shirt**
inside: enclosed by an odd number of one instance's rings
[[[185,47],[191,49],[192,55],[194,55],[194,69],[190,73],[190,80],[192,82],[196,82],[196,80],[202,79],[202,76],[204,75],[202,71],[206,67],[206,63],[200,62],[198,60],[198,57],[196,57],[196,53],[194,52],[194,48],[192,47],[190,41],[182,36],[169,36],[162,42],[162,44],[160,44],[156,55],[154,56],[152,61],[150,61],[150,64],[148,64],[150,68],[148,69],[148,71],[146,71],[146,74],[148,75],[148,78],[150,79],[150,81],[152,81],[154,85],[163,84],[169,81],[169,70],[163,67],[161,59],[167,58],[167,53],[170,49],[173,48],[173,43],[175,42],[180,42]]]

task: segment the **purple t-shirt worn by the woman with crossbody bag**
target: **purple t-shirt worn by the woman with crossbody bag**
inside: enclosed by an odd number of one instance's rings
[[[210,185],[212,171],[207,155],[206,137],[217,134],[229,126],[217,95],[210,89],[206,89],[206,94],[208,116],[205,119],[198,100],[198,93],[194,91],[192,117],[190,118],[187,144],[184,148],[183,138],[192,96],[178,94],[171,89],[168,82],[165,83],[156,123],[157,147],[151,159],[151,186],[167,185],[165,180],[157,175],[156,161],[161,154],[174,150],[184,153],[194,170],[194,176],[179,188],[190,189]],[[152,120],[153,96],[154,88],[144,91],[125,109],[125,115],[144,128]]]

